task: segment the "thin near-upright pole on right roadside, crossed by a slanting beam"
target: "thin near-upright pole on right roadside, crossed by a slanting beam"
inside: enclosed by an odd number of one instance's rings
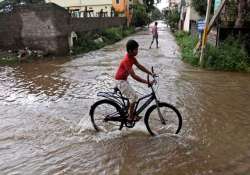
[[[206,12],[206,18],[205,18],[205,29],[204,29],[203,37],[202,37],[201,55],[200,55],[200,62],[199,62],[200,66],[204,65],[204,50],[206,48],[206,42],[207,42],[208,23],[209,23],[211,5],[212,5],[212,0],[207,0],[207,12]]]

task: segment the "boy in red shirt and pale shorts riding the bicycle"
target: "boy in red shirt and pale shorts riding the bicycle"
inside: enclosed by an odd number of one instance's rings
[[[139,44],[135,40],[129,40],[127,42],[126,44],[127,54],[121,60],[118,70],[115,74],[117,87],[120,89],[122,94],[125,95],[130,100],[129,116],[127,118],[129,125],[132,125],[133,121],[137,120],[135,119],[135,116],[134,116],[134,107],[135,107],[135,103],[138,97],[134,89],[130,86],[130,84],[127,81],[128,76],[131,75],[132,78],[134,78],[135,80],[141,83],[153,84],[153,81],[148,82],[147,80],[136,75],[133,70],[133,65],[136,65],[141,71],[147,74],[153,75],[148,69],[146,69],[143,65],[141,65],[135,58],[135,56],[138,54],[138,47],[139,47]]]

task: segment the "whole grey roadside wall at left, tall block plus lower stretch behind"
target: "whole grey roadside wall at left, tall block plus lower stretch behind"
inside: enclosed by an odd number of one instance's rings
[[[0,13],[0,49],[18,50],[28,47],[53,55],[69,52],[72,31],[85,32],[122,26],[125,18],[71,18],[67,10],[55,4],[29,5]]]

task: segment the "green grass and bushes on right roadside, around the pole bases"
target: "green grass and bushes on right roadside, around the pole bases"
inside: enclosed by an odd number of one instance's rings
[[[181,48],[182,59],[198,66],[199,56],[193,53],[198,38],[193,38],[182,31],[178,31],[174,35]],[[250,57],[239,39],[228,38],[218,47],[208,44],[204,60],[204,68],[206,69],[250,72]]]

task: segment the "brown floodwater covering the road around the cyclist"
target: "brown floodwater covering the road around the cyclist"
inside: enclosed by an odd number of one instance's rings
[[[163,24],[159,35],[159,49],[148,49],[145,30],[73,59],[0,67],[0,174],[250,174],[250,75],[193,68]],[[90,123],[131,38],[138,60],[160,76],[160,99],[183,116],[179,135],[151,137],[143,120],[108,134]]]

